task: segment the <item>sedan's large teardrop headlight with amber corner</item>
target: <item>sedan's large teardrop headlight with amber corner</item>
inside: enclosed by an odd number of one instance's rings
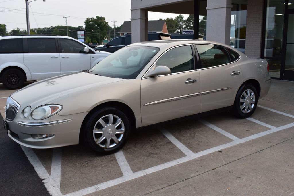
[[[43,120],[56,114],[61,109],[61,105],[43,105],[34,109],[31,116],[35,120]]]

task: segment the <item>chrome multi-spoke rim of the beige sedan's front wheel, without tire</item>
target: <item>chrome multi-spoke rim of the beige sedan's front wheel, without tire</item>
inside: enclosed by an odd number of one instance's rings
[[[123,121],[120,117],[107,114],[101,117],[95,124],[93,137],[96,144],[108,149],[116,146],[125,132]]]

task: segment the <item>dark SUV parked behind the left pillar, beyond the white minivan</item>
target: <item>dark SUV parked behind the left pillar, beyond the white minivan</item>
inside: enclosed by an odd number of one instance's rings
[[[162,40],[162,39],[171,39],[171,35],[167,33],[148,33],[148,41]],[[122,35],[122,36],[117,36],[111,39],[102,47],[96,47],[94,50],[113,53],[131,43],[132,43],[131,34]]]

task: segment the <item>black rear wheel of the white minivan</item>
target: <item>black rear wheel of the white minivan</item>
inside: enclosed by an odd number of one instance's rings
[[[16,68],[7,69],[3,72],[2,84],[8,89],[20,89],[26,80],[24,73]]]

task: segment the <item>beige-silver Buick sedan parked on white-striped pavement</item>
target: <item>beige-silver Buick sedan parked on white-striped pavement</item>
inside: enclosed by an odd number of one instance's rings
[[[220,108],[247,118],[270,88],[268,63],[211,41],[128,45],[90,70],[31,84],[7,99],[4,125],[31,148],[121,149],[131,130]]]

